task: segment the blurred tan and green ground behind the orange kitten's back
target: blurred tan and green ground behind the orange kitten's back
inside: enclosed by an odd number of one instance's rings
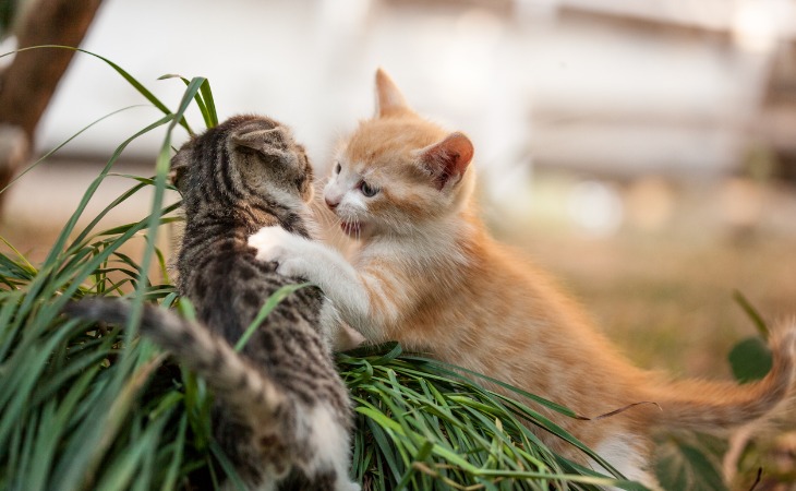
[[[612,239],[534,244],[608,336],[639,364],[727,378],[726,354],[753,325],[733,298],[741,291],[774,322],[796,308],[796,243]],[[577,264],[566,258],[588,258]]]

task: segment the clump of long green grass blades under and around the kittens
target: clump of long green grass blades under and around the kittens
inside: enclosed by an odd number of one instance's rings
[[[197,105],[206,127],[217,123],[209,83],[182,79],[185,93],[172,112],[120,67],[98,58],[164,117],[119,145],[41,264],[31,264],[8,242],[8,251],[0,253],[0,489],[218,489],[225,479],[240,486],[212,436],[212,394],[136,334],[144,302],[182,306],[190,315],[155,244],[160,227],[179,219],[179,204],[164,204],[172,131],[177,125],[192,131],[183,117],[191,104]],[[131,176],[129,191],[77,230],[77,218],[128,144],[156,129],[165,130],[165,136],[154,177]],[[105,215],[145,188],[154,190],[147,215],[97,230]],[[142,236],[146,247],[141,260],[120,251]],[[149,278],[153,263],[162,280]],[[131,298],[132,319],[122,326],[60,315],[68,301],[88,296]],[[479,384],[478,374],[463,376],[455,367],[403,354],[396,344],[340,354],[338,363],[357,414],[351,472],[364,489],[642,489],[545,447],[529,424],[611,469],[518,402],[528,394],[518,391],[518,400],[497,395]]]

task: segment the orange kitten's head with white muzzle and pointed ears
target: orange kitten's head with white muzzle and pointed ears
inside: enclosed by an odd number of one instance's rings
[[[377,110],[342,142],[324,190],[349,236],[410,235],[462,209],[474,184],[473,147],[418,116],[376,72]]]

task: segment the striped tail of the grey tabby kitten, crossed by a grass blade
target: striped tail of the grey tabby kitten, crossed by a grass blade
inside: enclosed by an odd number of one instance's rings
[[[72,318],[123,324],[130,311],[130,302],[124,300],[84,299],[68,304],[63,312]],[[288,397],[272,380],[251,367],[225,339],[197,323],[144,304],[140,328],[202,375],[216,396],[253,428],[277,421],[276,415],[289,410]],[[256,421],[250,421],[254,415]]]

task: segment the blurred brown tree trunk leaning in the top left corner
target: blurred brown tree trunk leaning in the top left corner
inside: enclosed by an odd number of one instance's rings
[[[101,0],[33,2],[16,23],[17,46],[80,46],[100,3]],[[20,158],[20,145],[29,155],[36,125],[73,55],[72,50],[56,48],[24,51],[0,73],[0,139],[7,140],[0,142],[0,189],[8,185],[25,160]]]

